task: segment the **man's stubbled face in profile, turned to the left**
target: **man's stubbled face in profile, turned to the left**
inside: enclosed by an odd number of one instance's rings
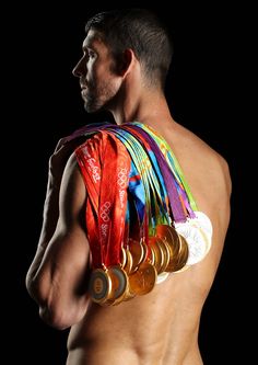
[[[83,56],[73,69],[80,79],[81,95],[86,112],[112,110],[116,105],[122,78],[116,72],[110,50],[95,30],[90,30],[83,46]]]

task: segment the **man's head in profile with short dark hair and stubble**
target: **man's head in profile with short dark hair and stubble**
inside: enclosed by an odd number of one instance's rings
[[[85,32],[83,57],[73,73],[80,78],[87,112],[114,112],[125,101],[128,84],[164,89],[172,44],[155,14],[144,9],[102,12],[87,21]]]

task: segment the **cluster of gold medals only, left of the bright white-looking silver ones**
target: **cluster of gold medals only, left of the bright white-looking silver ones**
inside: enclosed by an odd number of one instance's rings
[[[148,244],[129,239],[128,247],[121,248],[120,265],[92,272],[90,295],[93,301],[109,306],[148,294],[171,272],[181,270],[187,259],[184,237],[171,226],[159,225]]]

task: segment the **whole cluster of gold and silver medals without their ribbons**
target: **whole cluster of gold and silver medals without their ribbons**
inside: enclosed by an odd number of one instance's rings
[[[150,293],[169,273],[183,272],[201,261],[211,247],[211,225],[203,213],[198,215],[201,219],[181,224],[178,230],[168,225],[156,226],[156,235],[149,237],[149,244],[129,239],[128,247],[121,248],[120,265],[92,272],[92,300],[102,306],[118,305]]]

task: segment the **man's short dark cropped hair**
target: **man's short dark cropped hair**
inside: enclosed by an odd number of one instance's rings
[[[155,13],[137,8],[105,11],[86,22],[86,34],[90,28],[101,33],[115,59],[131,48],[143,67],[145,79],[164,88],[173,45],[166,26]]]

